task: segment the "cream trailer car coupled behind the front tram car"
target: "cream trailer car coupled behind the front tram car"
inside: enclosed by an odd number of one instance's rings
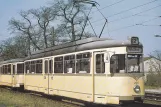
[[[12,59],[0,62],[0,86],[23,88],[24,59]]]

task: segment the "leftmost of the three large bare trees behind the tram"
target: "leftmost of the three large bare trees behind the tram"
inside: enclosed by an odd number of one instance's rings
[[[11,33],[20,33],[23,35],[27,35],[28,38],[28,52],[30,52],[30,46],[32,43],[33,47],[37,50],[40,50],[40,47],[37,45],[37,41],[35,37],[35,25],[32,24],[31,18],[29,17],[30,13],[27,11],[21,11],[20,16],[22,17],[22,20],[17,20],[15,18],[12,18],[9,21],[10,30]]]

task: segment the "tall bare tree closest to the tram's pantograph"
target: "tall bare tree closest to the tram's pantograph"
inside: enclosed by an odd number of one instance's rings
[[[68,34],[71,41],[79,38],[83,30],[83,25],[87,22],[87,6],[73,1],[56,0],[52,5],[53,8],[59,9],[58,16],[61,17],[61,27],[64,34]]]

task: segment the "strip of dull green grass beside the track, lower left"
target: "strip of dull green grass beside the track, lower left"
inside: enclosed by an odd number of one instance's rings
[[[5,107],[76,107],[61,101],[0,88],[0,106]]]

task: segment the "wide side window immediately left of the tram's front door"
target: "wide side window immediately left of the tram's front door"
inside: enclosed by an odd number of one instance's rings
[[[76,55],[76,73],[90,73],[90,53]]]

